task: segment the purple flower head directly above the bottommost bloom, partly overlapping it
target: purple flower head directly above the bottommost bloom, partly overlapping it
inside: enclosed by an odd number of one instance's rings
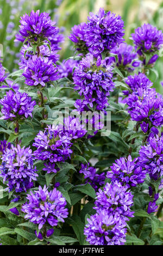
[[[134,211],[130,210],[133,205],[133,195],[127,186],[121,185],[120,182],[106,183],[103,190],[99,188],[96,193],[96,201],[93,209],[100,212],[106,209],[108,212],[114,212],[124,218],[125,221],[128,217],[133,217]]]

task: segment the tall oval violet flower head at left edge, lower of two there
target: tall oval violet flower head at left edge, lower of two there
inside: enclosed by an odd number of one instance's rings
[[[38,176],[36,167],[33,166],[33,153],[30,148],[21,148],[20,145],[6,148],[2,155],[2,164],[0,166],[3,181],[7,181],[9,192],[15,190],[18,192],[27,191],[33,187],[33,180]]]

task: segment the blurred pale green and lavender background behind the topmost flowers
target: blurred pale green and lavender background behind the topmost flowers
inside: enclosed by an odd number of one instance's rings
[[[24,13],[40,9],[51,14],[52,19],[65,34],[65,42],[60,51],[62,60],[73,55],[73,44],[67,37],[71,27],[86,22],[89,12],[97,13],[100,7],[122,16],[126,29],[125,39],[129,44],[132,43],[129,39],[130,34],[145,22],[163,31],[163,1],[160,0],[0,0],[0,44],[3,45],[3,65],[9,71],[18,69],[18,52],[22,44],[16,44],[14,39],[20,25],[20,16]],[[163,81],[162,64],[163,57],[160,57],[155,65],[158,77],[154,73],[149,75],[159,93],[163,93],[160,85]]]

